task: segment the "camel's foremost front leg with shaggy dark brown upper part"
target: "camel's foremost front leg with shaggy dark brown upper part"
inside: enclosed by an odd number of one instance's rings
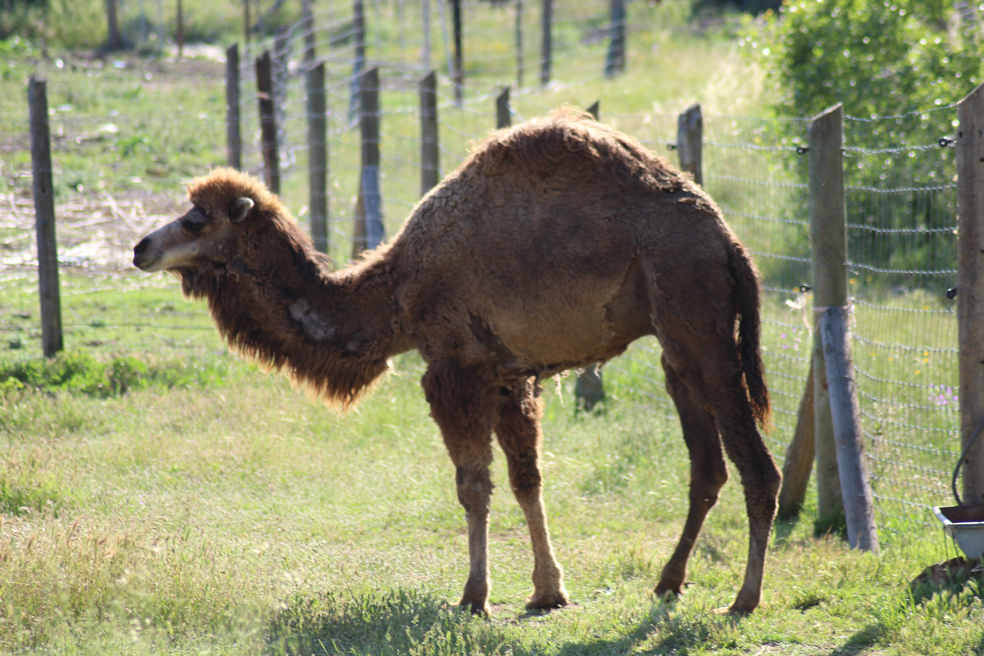
[[[488,526],[492,481],[492,425],[498,410],[496,389],[475,372],[455,363],[428,368],[423,381],[431,417],[441,428],[448,454],[457,471],[458,501],[468,524],[468,579],[461,606],[488,615]]]

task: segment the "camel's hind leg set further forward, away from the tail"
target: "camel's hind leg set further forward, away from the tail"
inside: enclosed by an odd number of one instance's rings
[[[680,542],[663,567],[662,576],[656,584],[654,592],[660,597],[667,592],[674,595],[683,592],[683,582],[687,578],[687,561],[701,533],[704,518],[717,502],[717,493],[728,480],[728,470],[724,464],[724,453],[714,417],[697,402],[690,388],[687,388],[666,362],[665,357],[662,358],[662,365],[666,373],[666,390],[680,414],[683,439],[690,451],[690,510]]]

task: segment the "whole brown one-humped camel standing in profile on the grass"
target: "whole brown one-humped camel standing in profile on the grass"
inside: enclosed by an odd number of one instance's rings
[[[390,357],[423,356],[467,517],[462,606],[488,612],[493,432],[529,525],[526,605],[568,603],[541,497],[539,384],[647,334],[662,344],[691,457],[690,511],[655,593],[681,593],[727,452],[750,530],[730,612],[759,604],[780,479],[756,428],[769,415],[759,282],[720,210],[664,159],[585,114],[554,112],[492,134],[392,243],[338,271],[255,178],[217,169],[188,197],[192,209],[143,239],[134,264],[207,299],[233,349],[342,406]]]

